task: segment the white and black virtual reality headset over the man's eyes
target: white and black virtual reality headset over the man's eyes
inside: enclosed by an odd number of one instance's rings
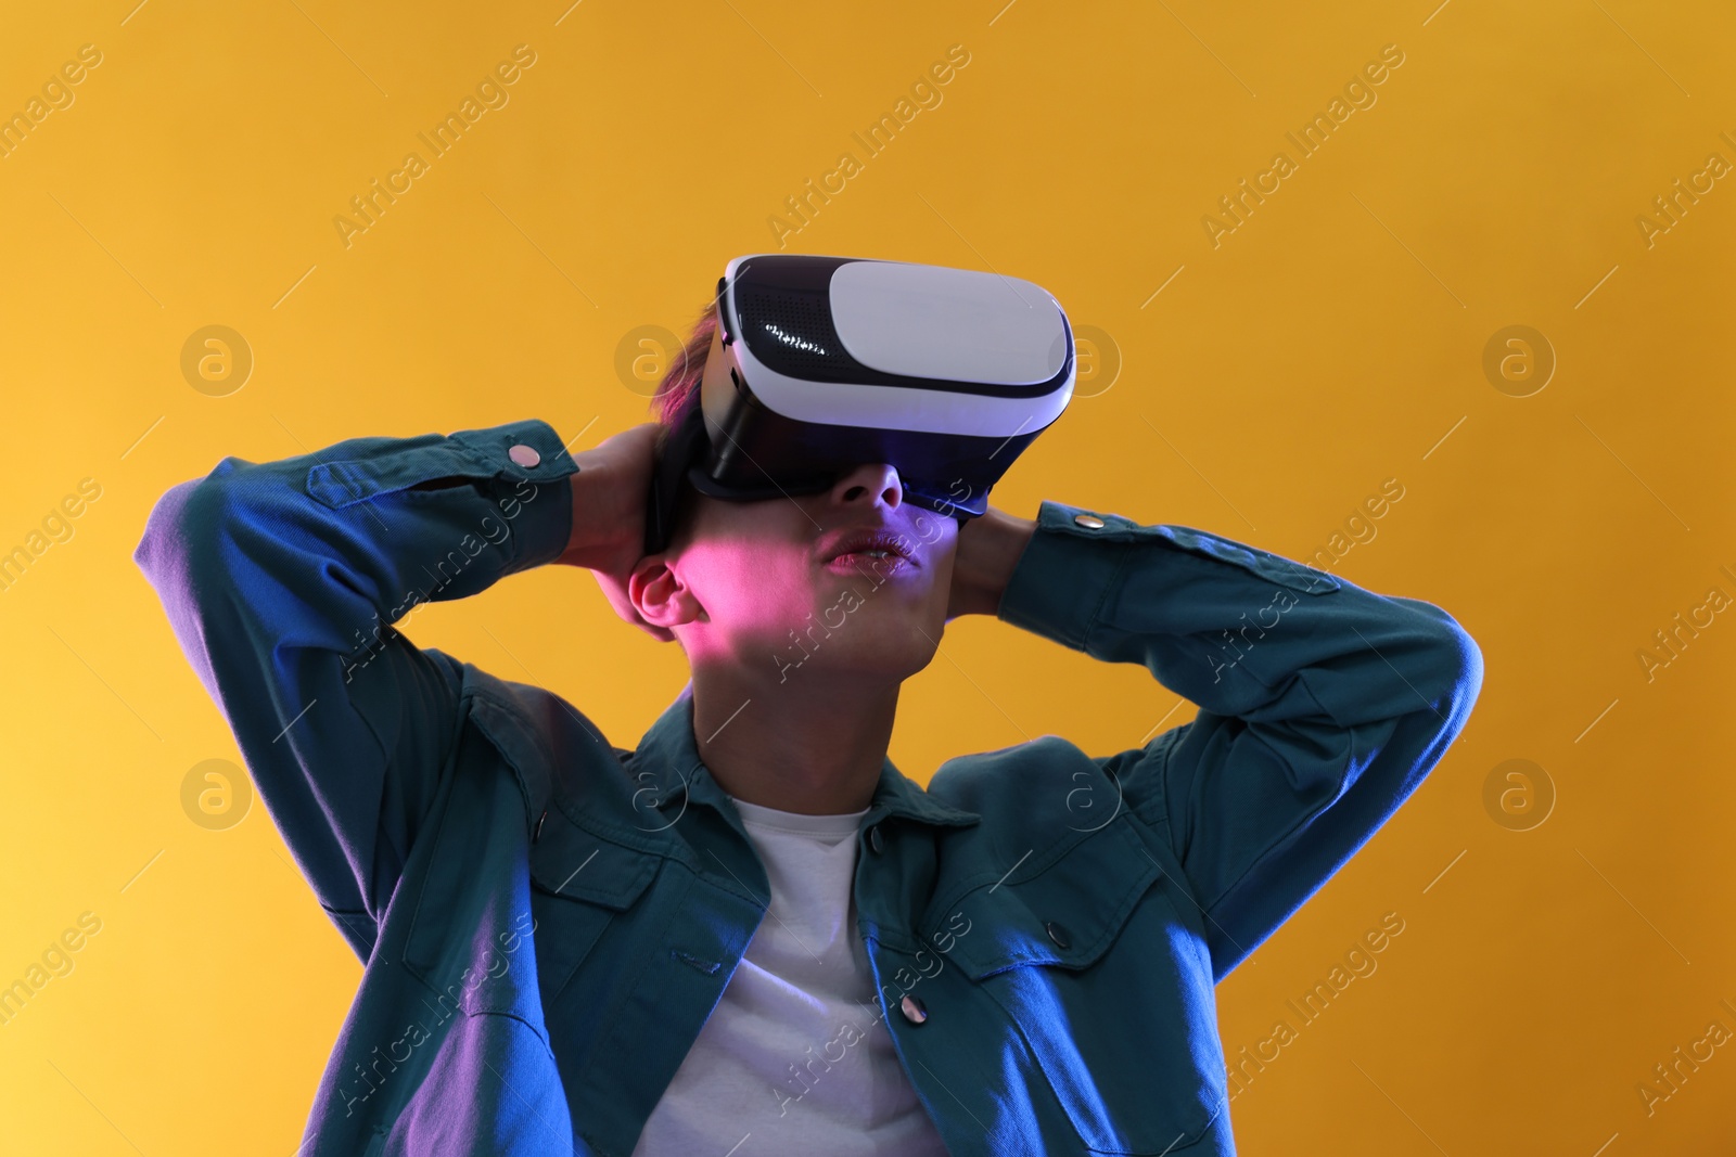
[[[904,501],[957,517],[1073,397],[1073,328],[1019,278],[859,257],[752,253],[717,283],[698,404],[668,434],[646,553],[687,487],[727,501],[816,494],[885,461]]]

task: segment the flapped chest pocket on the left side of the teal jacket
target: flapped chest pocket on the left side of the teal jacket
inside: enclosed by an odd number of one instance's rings
[[[545,1010],[634,909],[661,862],[654,852],[602,840],[549,810],[531,845],[536,978]]]

